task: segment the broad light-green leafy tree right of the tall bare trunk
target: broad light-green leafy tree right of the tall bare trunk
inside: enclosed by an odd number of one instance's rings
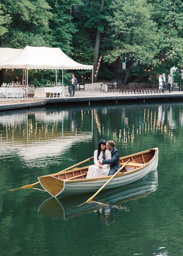
[[[152,61],[157,55],[160,35],[151,19],[153,7],[146,0],[116,0],[111,8],[113,17],[108,17],[108,20],[115,49],[110,51],[105,61],[115,61],[119,53],[124,52],[123,49],[134,54],[129,61],[126,83],[135,60]]]

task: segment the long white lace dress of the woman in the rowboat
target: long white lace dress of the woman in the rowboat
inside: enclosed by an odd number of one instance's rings
[[[97,153],[98,153],[98,150],[95,150],[94,158],[93,158],[95,165],[89,167],[87,172],[87,177],[86,177],[87,179],[107,176],[110,171],[110,164],[104,164],[102,165],[102,169],[99,169]],[[100,152],[99,159],[102,159],[102,155],[103,155],[103,151]],[[108,149],[106,149],[105,151],[105,159],[106,160],[111,159],[111,153],[110,153],[110,150]]]

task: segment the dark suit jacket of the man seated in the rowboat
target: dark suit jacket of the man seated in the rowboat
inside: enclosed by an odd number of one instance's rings
[[[102,164],[110,164],[110,171],[108,175],[113,175],[117,170],[120,168],[119,164],[119,156],[120,152],[117,150],[117,148],[113,148],[113,151],[111,152],[111,159],[103,159]]]

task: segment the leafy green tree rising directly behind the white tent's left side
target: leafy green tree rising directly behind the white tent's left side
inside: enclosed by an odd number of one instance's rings
[[[1,3],[3,12],[11,17],[8,31],[1,37],[1,47],[51,46],[52,14],[46,0],[1,0]]]

